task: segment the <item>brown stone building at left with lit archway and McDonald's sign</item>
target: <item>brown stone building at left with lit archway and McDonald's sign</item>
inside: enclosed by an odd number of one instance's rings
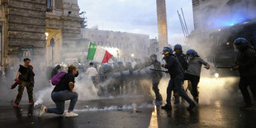
[[[25,57],[31,58],[34,64],[55,64],[67,54],[65,48],[74,47],[75,40],[82,37],[84,19],[79,17],[77,0],[1,0],[0,8],[4,67]],[[53,50],[52,38],[55,39]]]

